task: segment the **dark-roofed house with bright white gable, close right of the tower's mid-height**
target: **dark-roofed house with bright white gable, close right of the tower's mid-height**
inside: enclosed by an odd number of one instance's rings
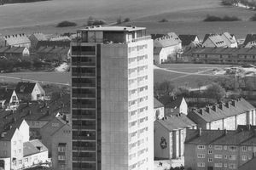
[[[165,116],[176,113],[188,114],[188,105],[182,96],[162,96],[159,100],[165,106]]]

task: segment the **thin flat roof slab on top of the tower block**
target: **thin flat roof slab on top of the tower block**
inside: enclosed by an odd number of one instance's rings
[[[79,31],[139,31],[146,30],[145,27],[137,26],[86,26]]]

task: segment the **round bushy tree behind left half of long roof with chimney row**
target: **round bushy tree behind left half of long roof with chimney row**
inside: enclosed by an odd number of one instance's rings
[[[212,83],[208,86],[207,90],[204,92],[205,96],[209,99],[216,99],[219,102],[224,98],[226,94],[224,88],[222,88],[218,83]]]

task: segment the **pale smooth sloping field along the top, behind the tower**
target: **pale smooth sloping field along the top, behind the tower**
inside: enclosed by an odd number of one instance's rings
[[[61,5],[60,5],[61,3]],[[115,21],[119,15],[132,20],[148,15],[185,9],[216,7],[218,0],[51,0],[0,6],[0,28],[56,24],[62,20],[84,20],[94,16]]]

